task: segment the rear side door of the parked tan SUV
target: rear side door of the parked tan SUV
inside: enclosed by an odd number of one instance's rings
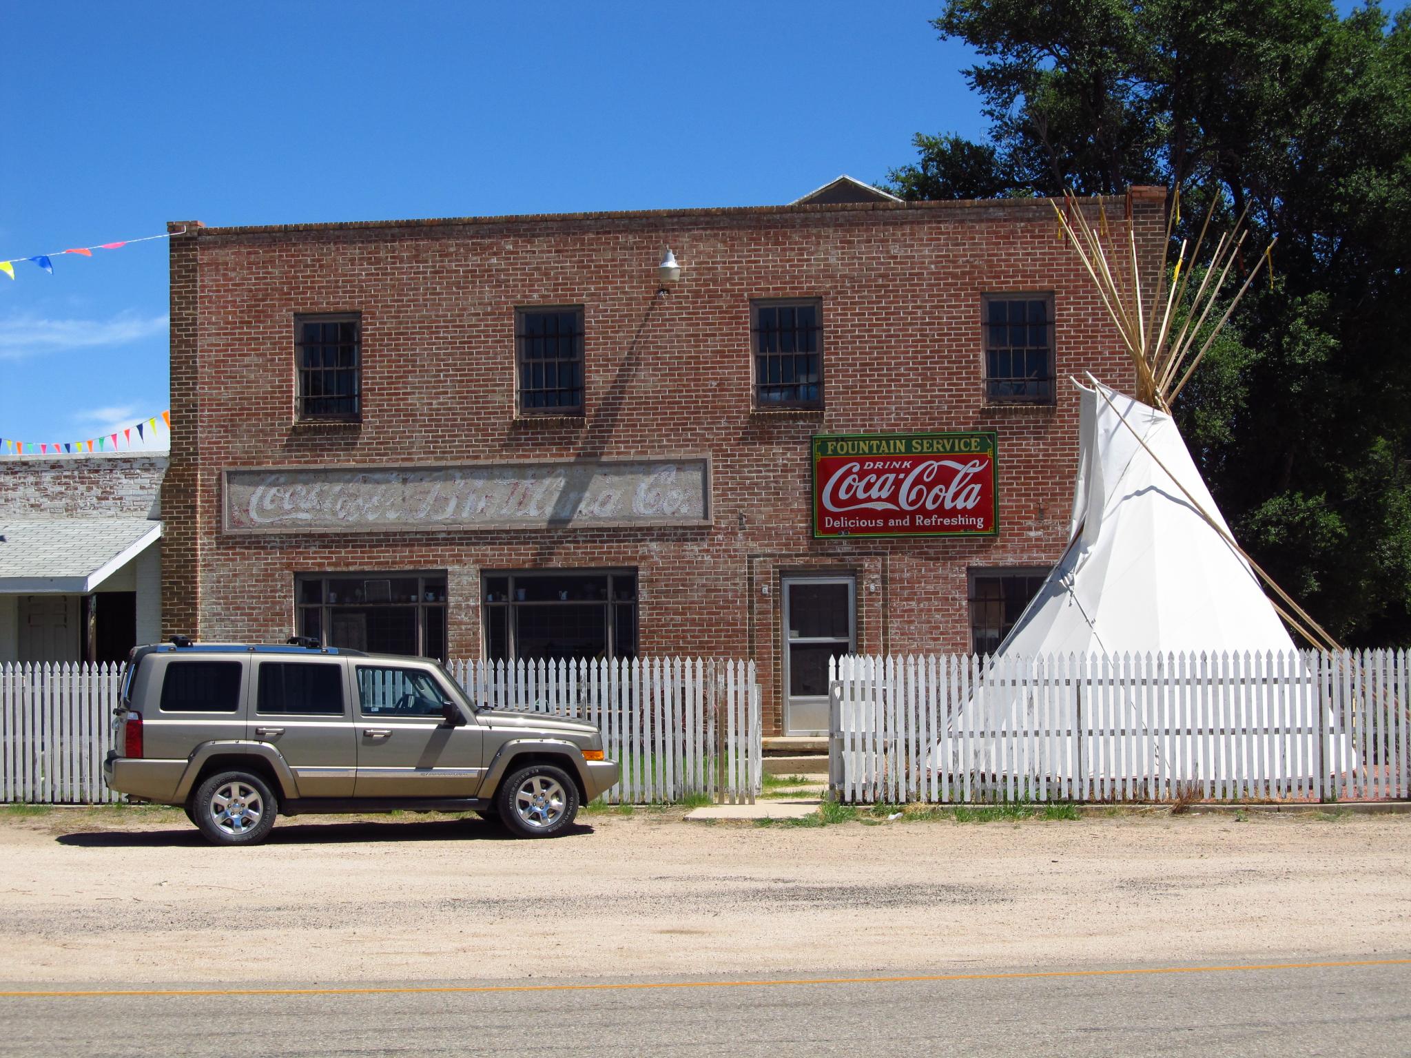
[[[357,736],[344,662],[260,657],[251,736],[279,750],[301,797],[351,797]]]

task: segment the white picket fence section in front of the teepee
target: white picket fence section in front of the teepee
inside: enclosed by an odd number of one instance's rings
[[[1405,650],[834,659],[842,801],[1411,796]]]

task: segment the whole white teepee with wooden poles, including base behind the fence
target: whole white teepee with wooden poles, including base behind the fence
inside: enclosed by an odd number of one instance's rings
[[[1071,196],[1055,210],[1132,357],[1137,392],[1120,394],[1092,375],[1086,385],[1075,379],[1079,464],[1068,547],[976,674],[968,701],[951,715],[948,749],[937,745],[931,766],[1007,782],[1012,789],[1053,782],[1061,765],[996,756],[995,734],[1044,729],[1057,739],[1054,760],[1079,762],[1084,790],[1089,782],[1120,780],[1130,787],[1133,779],[1153,776],[1164,783],[1208,782],[1211,763],[1205,760],[1202,774],[1202,745],[1219,729],[1222,738],[1235,735],[1240,752],[1252,753],[1259,732],[1277,731],[1284,752],[1263,765],[1264,777],[1311,774],[1314,731],[1322,725],[1314,722],[1311,671],[1305,656],[1294,653],[1285,624],[1318,649],[1340,647],[1239,546],[1170,413],[1268,251],[1208,329],[1245,241],[1243,217],[1233,236],[1219,238],[1194,292],[1191,272],[1182,276],[1181,244],[1158,317],[1163,299],[1141,298],[1130,224],[1119,254],[1105,216],[1099,213],[1094,226]],[[1209,220],[1206,214],[1192,257],[1199,255]],[[1119,677],[1119,670],[1132,671],[1133,660],[1146,676]],[[1055,680],[1055,670],[1074,679]],[[1086,674],[1079,679],[1079,673]],[[1228,684],[1218,693],[1228,700],[1228,714],[1218,722],[1197,715],[1199,695],[1191,694],[1180,698],[1182,715],[1171,715],[1170,707],[1158,715],[1143,680],[1175,680],[1201,694],[1215,693],[1212,681]],[[1094,694],[1096,719],[1085,697]],[[1268,698],[1277,704],[1270,707]],[[1126,741],[1125,755],[1094,752],[1103,739],[1110,745],[1115,732]],[[1343,753],[1338,759],[1348,759],[1340,739],[1338,750]]]

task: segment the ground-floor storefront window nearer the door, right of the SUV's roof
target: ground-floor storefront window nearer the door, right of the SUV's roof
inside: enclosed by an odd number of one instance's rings
[[[487,573],[485,657],[636,657],[636,573]]]

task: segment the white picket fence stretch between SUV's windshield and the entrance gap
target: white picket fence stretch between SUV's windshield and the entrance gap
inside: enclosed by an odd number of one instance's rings
[[[611,803],[753,804],[763,772],[755,663],[703,657],[453,662],[473,701],[595,724],[622,779]]]

